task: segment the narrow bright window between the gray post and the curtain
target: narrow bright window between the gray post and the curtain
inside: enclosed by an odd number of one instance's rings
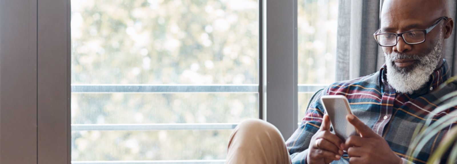
[[[298,0],[298,85],[327,87],[335,81],[337,0]],[[298,121],[312,91],[298,93]]]

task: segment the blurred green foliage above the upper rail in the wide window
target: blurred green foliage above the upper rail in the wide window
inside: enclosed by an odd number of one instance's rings
[[[257,13],[252,0],[73,0],[72,83],[258,83]]]

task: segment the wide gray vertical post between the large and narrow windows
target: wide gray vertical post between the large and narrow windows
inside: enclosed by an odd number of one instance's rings
[[[298,127],[297,0],[266,0],[265,23],[266,121],[287,139]]]

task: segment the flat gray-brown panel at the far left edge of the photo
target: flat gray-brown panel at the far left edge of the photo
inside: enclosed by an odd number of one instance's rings
[[[37,1],[0,1],[0,163],[37,163]]]

